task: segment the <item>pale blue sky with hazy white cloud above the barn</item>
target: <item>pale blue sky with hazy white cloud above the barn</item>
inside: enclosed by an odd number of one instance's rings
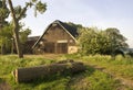
[[[13,4],[24,4],[28,0],[12,0]],[[116,27],[133,47],[133,0],[41,0],[47,11],[34,18],[29,9],[22,20],[32,30],[31,36],[42,35],[45,27],[55,20],[73,22],[83,26],[105,30]]]

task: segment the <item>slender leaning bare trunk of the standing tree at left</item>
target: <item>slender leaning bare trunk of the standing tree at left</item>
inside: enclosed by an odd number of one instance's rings
[[[19,40],[19,20],[16,18],[12,1],[8,0],[8,2],[9,2],[9,8],[10,8],[10,11],[11,11],[12,19],[13,19],[13,24],[14,24],[13,35],[14,35],[14,43],[16,43],[16,47],[17,47],[17,53],[19,55],[19,58],[23,58],[21,44],[20,44],[20,40]]]

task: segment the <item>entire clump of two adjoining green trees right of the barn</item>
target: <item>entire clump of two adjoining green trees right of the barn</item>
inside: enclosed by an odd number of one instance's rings
[[[79,46],[82,54],[112,54],[116,49],[126,48],[126,38],[117,29],[101,31],[96,27],[80,30]]]

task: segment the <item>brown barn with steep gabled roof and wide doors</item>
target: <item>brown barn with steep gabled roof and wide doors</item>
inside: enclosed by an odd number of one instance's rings
[[[78,30],[59,20],[52,22],[33,45],[34,54],[72,54],[78,52]]]

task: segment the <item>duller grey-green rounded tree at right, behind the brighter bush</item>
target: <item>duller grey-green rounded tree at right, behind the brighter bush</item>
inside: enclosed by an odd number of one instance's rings
[[[110,41],[109,52],[114,54],[115,50],[120,50],[129,47],[126,44],[126,38],[120,33],[120,31],[115,27],[109,27],[105,30],[106,36]]]

